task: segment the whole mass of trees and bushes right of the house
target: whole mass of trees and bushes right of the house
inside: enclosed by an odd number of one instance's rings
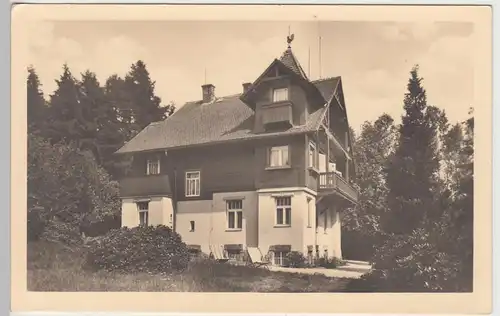
[[[427,105],[422,82],[415,67],[392,153],[383,144],[375,151],[379,159],[367,159],[379,146],[367,146],[363,132],[358,139],[356,215],[371,212],[378,201],[384,238],[371,258],[374,270],[352,282],[351,291],[472,290],[474,120],[450,126],[444,111]],[[367,194],[374,183],[382,191]],[[360,230],[374,230],[371,222],[360,223]]]

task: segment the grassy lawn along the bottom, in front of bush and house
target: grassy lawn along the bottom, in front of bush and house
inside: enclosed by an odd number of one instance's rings
[[[28,244],[29,291],[129,292],[341,292],[348,279],[268,271],[262,268],[190,263],[182,273],[152,275],[83,270],[85,252],[59,244]]]

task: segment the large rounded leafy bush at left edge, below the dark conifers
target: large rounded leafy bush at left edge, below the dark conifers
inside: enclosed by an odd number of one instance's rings
[[[93,224],[120,215],[118,183],[111,181],[91,153],[73,144],[51,144],[30,134],[27,189],[30,240],[43,237],[42,232],[52,229],[54,220],[68,224],[71,230],[85,223],[91,231]],[[57,231],[64,228],[56,226]]]

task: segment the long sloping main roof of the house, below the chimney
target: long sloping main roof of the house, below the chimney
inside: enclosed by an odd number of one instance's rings
[[[337,77],[338,78],[338,77]],[[312,83],[321,93],[333,95],[338,79]],[[332,92],[328,93],[328,90]],[[194,145],[296,135],[318,130],[326,112],[321,107],[308,115],[306,124],[279,132],[254,133],[254,111],[240,100],[240,94],[217,99],[213,103],[188,102],[172,116],[144,128],[117,153],[173,149]]]

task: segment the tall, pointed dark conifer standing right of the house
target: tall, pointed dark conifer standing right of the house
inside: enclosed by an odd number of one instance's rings
[[[387,166],[388,212],[384,216],[386,232],[406,235],[435,210],[437,135],[442,118],[442,113],[427,105],[418,66],[410,74],[399,140]]]

